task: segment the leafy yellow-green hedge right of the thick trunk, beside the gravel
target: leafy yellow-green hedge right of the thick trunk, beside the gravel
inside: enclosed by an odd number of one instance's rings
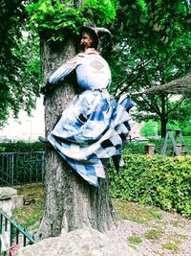
[[[111,196],[191,217],[191,156],[125,154],[121,175],[109,171]]]

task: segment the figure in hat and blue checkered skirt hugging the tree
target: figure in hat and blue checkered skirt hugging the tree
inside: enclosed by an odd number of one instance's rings
[[[79,92],[63,111],[48,136],[53,148],[91,185],[98,187],[98,177],[106,177],[113,157],[117,170],[122,163],[121,149],[130,130],[129,96],[111,96],[111,70],[97,52],[98,35],[110,32],[87,24],[81,29],[79,53],[59,67],[46,88],[63,81],[75,71]],[[105,168],[104,168],[105,167]]]

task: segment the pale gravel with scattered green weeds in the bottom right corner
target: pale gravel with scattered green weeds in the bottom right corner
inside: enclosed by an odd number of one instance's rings
[[[191,221],[175,213],[160,211],[160,214],[159,220],[152,220],[147,224],[126,220],[117,221],[107,235],[118,243],[127,243],[138,251],[138,255],[191,256]],[[152,237],[153,230],[155,232]],[[157,236],[155,236],[156,233]],[[130,237],[140,238],[138,244],[130,243],[128,240]]]

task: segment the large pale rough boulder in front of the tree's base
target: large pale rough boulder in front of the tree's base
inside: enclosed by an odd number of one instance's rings
[[[95,229],[77,229],[62,237],[44,239],[21,248],[16,256],[140,256],[125,243],[117,243]],[[142,255],[141,255],[142,256]]]

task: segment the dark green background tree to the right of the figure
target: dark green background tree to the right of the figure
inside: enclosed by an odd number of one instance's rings
[[[119,2],[121,8],[112,27],[112,92],[133,93],[186,75],[191,59],[189,2]],[[138,118],[159,119],[164,136],[171,113],[176,111],[169,102],[170,95],[141,95],[133,99],[138,104]]]

